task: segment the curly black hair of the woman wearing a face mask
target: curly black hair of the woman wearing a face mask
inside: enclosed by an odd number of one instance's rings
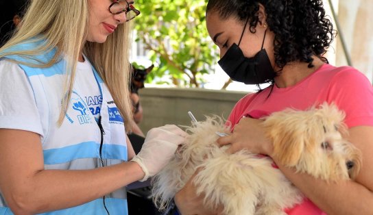
[[[325,15],[322,0],[209,0],[208,12],[221,18],[235,17],[243,24],[249,18],[250,31],[258,24],[259,3],[265,8],[267,25],[274,32],[276,66],[288,62],[307,62],[313,67],[312,55],[328,62],[322,55],[335,38],[335,30]]]

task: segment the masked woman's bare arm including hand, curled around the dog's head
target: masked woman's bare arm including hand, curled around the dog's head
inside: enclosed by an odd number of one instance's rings
[[[245,118],[234,127],[231,136],[219,138],[218,142],[232,144],[231,153],[246,148],[271,156],[272,143],[263,138],[263,134],[260,120]],[[295,173],[294,169],[282,166],[276,159],[274,161],[282,173],[327,214],[373,214],[373,127],[352,127],[349,134],[350,142],[363,153],[361,171],[355,181],[326,184],[310,175]]]

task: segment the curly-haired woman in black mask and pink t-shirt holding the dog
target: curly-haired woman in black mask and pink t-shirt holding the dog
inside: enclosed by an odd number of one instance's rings
[[[230,153],[248,149],[272,157],[272,142],[265,138],[258,118],[285,108],[335,103],[346,113],[348,140],[363,153],[361,171],[354,180],[327,184],[274,158],[304,193],[304,201],[285,212],[373,214],[372,85],[355,68],[335,67],[323,58],[334,35],[322,0],[210,0],[206,25],[220,49],[219,64],[233,80],[272,83],[235,105],[228,118],[232,134],[219,138],[219,145],[230,144]],[[218,214],[219,208],[205,208],[202,199],[191,181],[175,197],[182,214]]]

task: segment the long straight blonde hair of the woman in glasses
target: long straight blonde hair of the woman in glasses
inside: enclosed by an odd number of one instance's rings
[[[21,27],[16,34],[0,49],[0,58],[6,55],[21,55],[36,63],[19,62],[27,66],[46,68],[66,58],[66,73],[62,98],[62,108],[58,119],[62,124],[69,107],[80,47],[93,64],[97,73],[104,80],[112,94],[121,116],[125,119],[128,131],[132,128],[133,118],[130,104],[130,62],[131,45],[129,23],[119,25],[116,31],[108,36],[106,42],[86,42],[89,22],[88,1],[75,0],[33,0],[31,1]],[[32,50],[9,50],[14,45],[45,41],[43,45]],[[8,49],[8,50],[7,50]],[[40,62],[33,58],[47,51],[56,49],[49,62]]]

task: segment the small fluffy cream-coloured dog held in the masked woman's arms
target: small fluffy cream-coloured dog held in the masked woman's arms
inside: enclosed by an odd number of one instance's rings
[[[264,125],[278,162],[335,183],[353,179],[361,164],[360,151],[341,136],[347,134],[343,120],[343,112],[324,103],[305,111],[275,112]],[[217,146],[216,132],[230,133],[221,118],[207,117],[186,130],[187,143],[153,180],[153,199],[160,210],[197,168],[197,194],[204,194],[210,208],[223,205],[226,215],[285,214],[284,209],[302,201],[302,193],[274,168],[270,157],[245,150],[228,154],[227,146]]]

